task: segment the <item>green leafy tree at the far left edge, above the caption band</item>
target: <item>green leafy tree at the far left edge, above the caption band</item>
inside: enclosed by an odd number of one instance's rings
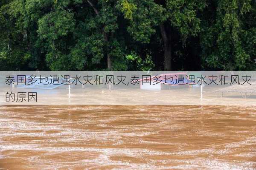
[[[17,0],[0,2],[0,66],[2,70],[27,67],[31,54],[27,50],[23,4]]]

